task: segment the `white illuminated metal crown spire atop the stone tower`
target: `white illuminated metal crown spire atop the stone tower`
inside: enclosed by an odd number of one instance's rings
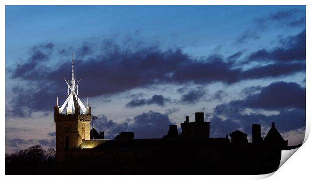
[[[65,82],[67,84],[67,95],[68,95],[68,97],[67,97],[66,101],[64,102],[64,104],[61,106],[59,113],[62,113],[63,110],[65,109],[66,105],[67,105],[66,114],[74,114],[75,106],[79,106],[81,108],[83,114],[87,114],[88,112],[86,110],[86,107],[83,105],[83,103],[81,102],[81,100],[78,97],[78,84],[79,84],[81,79],[79,81],[76,81],[76,78],[74,78],[73,60],[74,59],[73,59],[73,53],[72,53],[71,83],[69,84],[69,80],[67,81],[65,79]],[[70,89],[70,91],[69,91],[69,89]],[[76,93],[76,91],[77,91],[77,93]]]

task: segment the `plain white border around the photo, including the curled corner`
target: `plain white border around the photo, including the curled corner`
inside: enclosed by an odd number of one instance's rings
[[[23,0],[3,0],[0,1],[0,4],[2,5],[0,10],[0,20],[1,20],[1,35],[0,39],[2,40],[1,48],[0,48],[0,55],[2,57],[1,60],[1,67],[3,68],[3,71],[1,73],[1,82],[2,84],[5,84],[5,5],[306,5],[306,39],[309,40],[309,34],[310,29],[308,28],[308,22],[310,20],[310,1],[307,0],[240,0],[240,1],[232,1],[232,0],[214,0],[214,1],[198,1],[198,0],[192,0],[192,1],[185,1],[185,0],[179,0],[179,1],[164,1],[164,0],[158,0],[158,1],[121,1],[121,0],[110,0],[110,1],[99,1],[99,0],[45,0],[45,1],[39,1],[39,0],[31,0],[31,1],[23,1]],[[306,77],[311,77],[310,74],[310,65],[308,62],[308,59],[310,57],[310,54],[308,53],[308,50],[310,49],[310,43],[311,41],[306,41]],[[310,131],[310,112],[308,111],[310,108],[310,85],[309,85],[309,79],[306,78],[306,134],[304,142],[306,141],[309,131]],[[5,100],[5,88],[1,88],[1,96],[2,100]],[[2,123],[5,123],[5,101],[1,104],[1,110],[2,110]],[[2,158],[2,174],[5,174],[5,125],[3,127],[3,143],[0,154],[3,154],[1,156]],[[305,179],[309,177],[309,165],[310,165],[310,142],[305,142],[300,149],[297,150],[297,153],[293,155],[288,162],[285,162],[285,164],[280,167],[279,170],[275,172],[274,175],[272,175],[271,179],[288,179],[288,178],[294,178],[294,179]],[[88,169],[86,169],[88,170]],[[271,173],[273,174],[273,173]],[[196,175],[196,176],[184,176],[184,175],[176,175],[174,177],[172,176],[144,176],[144,175],[138,175],[138,176],[110,176],[106,175],[105,177],[102,176],[96,176],[96,178],[106,178],[106,179],[115,179],[115,178],[126,178],[126,179],[159,179],[159,178],[176,178],[176,179],[188,179],[188,178],[198,178],[198,179],[206,179],[206,178],[213,178],[213,179],[254,179],[254,178],[264,178],[267,176],[270,176],[271,174],[265,174],[265,175],[234,175],[234,176],[226,176],[226,175],[212,175],[212,176],[204,176],[204,175]],[[21,178],[22,176],[5,176],[6,178]],[[68,178],[65,176],[59,176]],[[55,178],[54,176],[23,176],[23,178]],[[72,177],[70,177],[72,178]],[[78,176],[74,175],[73,178],[76,179],[82,179],[82,178],[94,178],[94,176]]]

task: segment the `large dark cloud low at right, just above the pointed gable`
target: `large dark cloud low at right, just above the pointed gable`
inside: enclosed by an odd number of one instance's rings
[[[255,112],[245,114],[245,108]],[[256,110],[274,110],[279,114],[265,115],[260,111],[256,113]],[[225,117],[225,120],[220,117]],[[260,93],[244,100],[217,105],[211,119],[211,131],[213,135],[222,136],[237,128],[251,133],[252,124],[270,126],[271,122],[275,122],[278,130],[286,132],[305,127],[305,118],[305,88],[281,81],[263,87]]]

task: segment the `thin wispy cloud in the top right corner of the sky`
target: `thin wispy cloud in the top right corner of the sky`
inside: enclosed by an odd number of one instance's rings
[[[272,13],[266,17],[256,19],[259,27],[272,23],[283,24],[289,27],[305,26],[305,10],[289,9]]]

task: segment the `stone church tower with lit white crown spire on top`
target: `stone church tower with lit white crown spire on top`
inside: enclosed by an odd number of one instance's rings
[[[78,84],[74,78],[74,59],[72,54],[71,81],[67,84],[67,99],[64,104],[54,107],[54,122],[56,124],[56,160],[63,161],[71,148],[79,147],[83,140],[90,139],[91,107],[84,106],[78,97]],[[80,109],[82,112],[80,113]]]

